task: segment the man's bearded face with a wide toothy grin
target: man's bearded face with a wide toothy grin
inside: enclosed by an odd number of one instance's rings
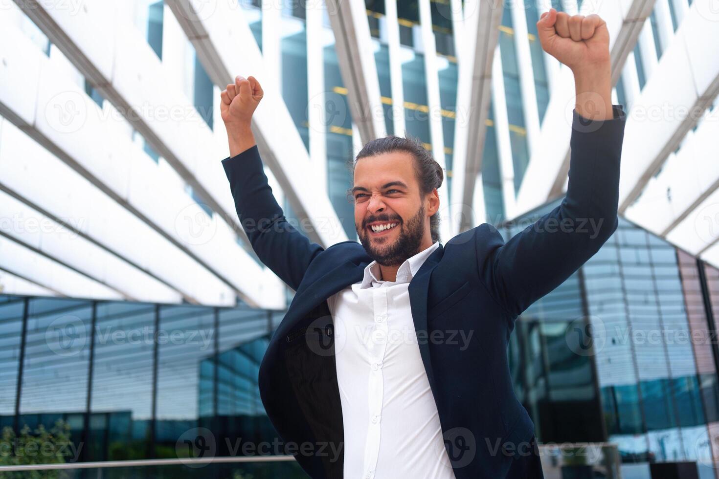
[[[354,167],[354,227],[367,255],[383,266],[402,264],[429,235],[429,214],[420,198],[414,159],[393,152],[359,159]],[[394,225],[387,228],[387,225]],[[372,225],[382,225],[375,232]]]

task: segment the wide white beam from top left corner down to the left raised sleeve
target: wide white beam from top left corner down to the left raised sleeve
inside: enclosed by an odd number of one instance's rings
[[[70,9],[15,1],[203,201],[247,240],[232,197],[224,194],[227,180],[216,164],[222,150],[180,82],[167,75],[150,45],[122,15],[125,6],[87,0],[82,8]]]

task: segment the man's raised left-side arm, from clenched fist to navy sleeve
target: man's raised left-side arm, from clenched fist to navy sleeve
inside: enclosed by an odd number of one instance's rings
[[[252,249],[292,289],[297,289],[311,261],[323,248],[288,223],[278,205],[250,124],[264,92],[254,78],[238,76],[221,93],[221,116],[230,156],[222,160],[240,224]]]

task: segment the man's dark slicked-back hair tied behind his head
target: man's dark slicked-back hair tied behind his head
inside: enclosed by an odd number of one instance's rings
[[[354,177],[354,167],[360,159],[393,152],[406,152],[414,158],[414,172],[419,184],[419,194],[422,200],[424,196],[434,190],[434,188],[439,190],[444,180],[442,167],[435,161],[432,154],[427,151],[422,141],[415,136],[401,138],[400,136],[390,135],[368,141],[352,163],[350,168],[352,177]],[[351,190],[348,190],[348,193],[350,191]],[[432,236],[432,242],[439,241],[439,211],[429,218],[429,231]]]

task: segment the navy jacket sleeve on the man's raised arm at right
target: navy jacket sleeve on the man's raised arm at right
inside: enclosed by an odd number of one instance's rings
[[[512,319],[577,271],[618,226],[626,113],[612,107],[608,120],[573,111],[569,184],[557,208],[506,243],[487,223],[475,231],[480,278]]]

